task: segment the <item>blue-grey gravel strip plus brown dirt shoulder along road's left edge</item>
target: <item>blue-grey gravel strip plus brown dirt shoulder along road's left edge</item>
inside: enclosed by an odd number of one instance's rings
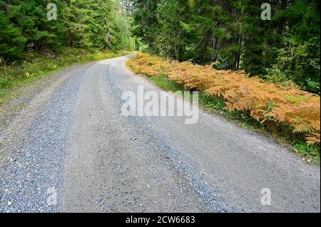
[[[20,98],[29,104],[1,132],[0,212],[56,211],[46,193],[60,188],[76,81],[91,64],[63,70],[51,86]]]

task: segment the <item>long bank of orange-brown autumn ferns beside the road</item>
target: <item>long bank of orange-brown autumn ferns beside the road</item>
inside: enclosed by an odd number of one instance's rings
[[[244,71],[216,70],[212,65],[178,63],[145,53],[131,58],[129,64],[136,73],[166,74],[185,88],[222,97],[228,110],[249,111],[260,122],[290,125],[308,144],[320,144],[320,96],[300,90],[294,83],[269,83]]]

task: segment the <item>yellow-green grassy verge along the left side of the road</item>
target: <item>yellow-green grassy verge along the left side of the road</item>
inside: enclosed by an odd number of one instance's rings
[[[21,56],[24,60],[11,65],[0,65],[0,106],[18,96],[20,88],[70,65],[115,58],[128,53],[81,48],[61,48],[55,58],[41,53],[24,53]]]

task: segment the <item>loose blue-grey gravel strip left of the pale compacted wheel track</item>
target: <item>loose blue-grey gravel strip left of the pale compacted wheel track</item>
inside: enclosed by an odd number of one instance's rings
[[[19,144],[0,163],[0,212],[57,211],[57,206],[49,206],[52,202],[47,200],[54,196],[51,189],[61,189],[66,142],[81,76],[81,72],[76,73],[54,93],[19,134]]]

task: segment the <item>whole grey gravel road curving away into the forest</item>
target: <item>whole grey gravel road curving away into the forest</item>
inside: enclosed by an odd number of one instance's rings
[[[0,212],[320,212],[320,166],[263,134],[203,110],[195,125],[121,115],[124,91],[161,92],[130,57],[63,70],[0,110]]]

